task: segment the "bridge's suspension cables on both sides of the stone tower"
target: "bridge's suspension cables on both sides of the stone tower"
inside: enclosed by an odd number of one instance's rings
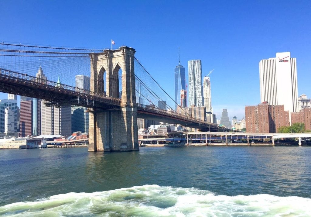
[[[90,54],[102,52],[104,52],[104,49],[64,48],[2,42],[0,43],[0,68],[34,77],[39,69],[42,69],[44,76],[47,77],[46,79],[57,82],[58,78],[60,78],[62,84],[74,87],[76,86],[76,75],[90,77]],[[119,93],[122,94],[122,70],[115,67],[113,66],[114,74],[110,84],[118,86]],[[134,70],[137,103],[176,113],[174,108],[178,103],[169,96],[136,58],[134,58]],[[105,73],[103,73],[103,76],[105,76]],[[106,82],[105,78],[99,81]],[[104,85],[101,86],[103,86],[101,93],[104,93],[104,90],[107,91]],[[97,87],[95,87],[96,89]],[[113,94],[114,97],[118,95],[118,93]],[[180,109],[183,110],[183,108]],[[188,114],[185,110],[183,110],[183,113],[191,117],[191,114]]]

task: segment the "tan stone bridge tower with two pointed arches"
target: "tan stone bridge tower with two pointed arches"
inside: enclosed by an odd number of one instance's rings
[[[137,104],[135,94],[134,54],[127,46],[118,50],[104,50],[90,54],[91,91],[119,97],[118,72],[122,70],[121,111],[94,111],[90,113],[89,151],[139,150]]]

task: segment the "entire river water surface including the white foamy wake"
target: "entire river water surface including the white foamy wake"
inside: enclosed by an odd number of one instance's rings
[[[0,150],[3,216],[311,216],[311,147]]]

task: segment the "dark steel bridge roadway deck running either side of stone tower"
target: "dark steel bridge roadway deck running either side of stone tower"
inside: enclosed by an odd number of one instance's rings
[[[121,109],[121,99],[2,68],[0,68],[0,84],[0,92],[44,99],[48,101],[47,106],[84,106],[91,108],[93,112]],[[165,123],[187,125],[210,131],[218,128],[216,124],[152,106],[137,104],[137,113],[140,118]]]

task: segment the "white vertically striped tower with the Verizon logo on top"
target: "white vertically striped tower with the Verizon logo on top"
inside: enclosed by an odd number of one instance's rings
[[[284,105],[284,110],[289,112],[298,111],[296,58],[290,58],[290,52],[261,60],[259,78],[261,102]]]

